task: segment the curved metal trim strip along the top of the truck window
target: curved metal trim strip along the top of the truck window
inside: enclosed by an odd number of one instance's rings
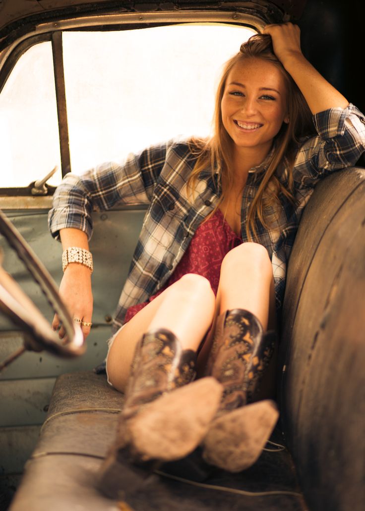
[[[87,16],[79,18],[64,19],[51,23],[40,23],[35,29],[19,37],[3,50],[0,54],[0,72],[11,52],[17,45],[35,35],[54,32],[57,30],[69,30],[83,27],[97,27],[99,25],[123,25],[123,24],[144,24],[144,23],[179,23],[179,22],[226,22],[251,25],[257,31],[265,26],[265,21],[259,15],[248,14],[237,11],[165,11],[165,12],[143,12],[143,13],[116,13],[98,16]]]

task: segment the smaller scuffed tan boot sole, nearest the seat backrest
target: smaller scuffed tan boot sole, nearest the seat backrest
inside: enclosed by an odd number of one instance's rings
[[[271,400],[243,406],[214,420],[203,443],[203,458],[229,472],[241,472],[259,458],[279,413]]]

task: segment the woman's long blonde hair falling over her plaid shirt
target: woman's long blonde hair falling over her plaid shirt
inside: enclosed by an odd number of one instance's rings
[[[280,194],[283,194],[289,201],[294,202],[292,176],[294,147],[297,145],[300,137],[314,133],[312,114],[308,104],[291,76],[274,55],[270,35],[253,35],[248,39],[248,41],[241,45],[240,52],[226,62],[216,95],[213,135],[208,140],[195,138],[191,141],[191,147],[195,147],[198,158],[195,167],[189,176],[187,188],[189,192],[194,193],[200,172],[209,166],[211,166],[212,173],[218,171],[221,182],[222,177],[224,177],[226,187],[226,190],[223,191],[224,193],[231,191],[233,188],[233,141],[223,126],[221,102],[226,80],[231,69],[238,62],[242,62],[249,58],[260,58],[269,61],[280,69],[284,76],[287,88],[287,106],[289,112],[289,123],[283,123],[280,131],[275,137],[275,150],[273,151],[271,161],[269,162],[268,169],[265,172],[265,175],[259,185],[259,189],[257,190],[248,211],[246,234],[248,240],[252,241],[257,239],[255,228],[256,219],[258,219],[265,228],[270,227],[274,218],[272,214],[268,214],[268,211],[275,211],[275,205],[280,204],[278,199]],[[275,170],[284,158],[286,158],[288,166],[288,179],[286,185],[284,185],[275,176]],[[216,211],[220,203],[223,201],[224,193],[222,193],[214,211]]]

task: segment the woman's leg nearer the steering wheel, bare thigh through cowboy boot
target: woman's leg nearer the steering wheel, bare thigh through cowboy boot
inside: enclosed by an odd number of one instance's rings
[[[121,391],[128,385],[115,443],[101,467],[99,484],[106,495],[118,498],[119,489],[130,489],[136,478],[135,473],[130,480],[123,477],[125,452],[142,463],[171,461],[187,456],[205,437],[223,387],[212,377],[192,379],[194,352],[212,321],[214,299],[206,278],[184,275],[115,337],[109,379]]]

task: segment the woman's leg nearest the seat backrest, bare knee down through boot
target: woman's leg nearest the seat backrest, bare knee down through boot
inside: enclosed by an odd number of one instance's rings
[[[277,421],[278,412],[271,400],[257,401],[257,389],[272,352],[272,336],[264,336],[274,315],[273,275],[266,249],[244,243],[225,257],[220,277],[216,315],[217,342],[208,361],[209,374],[224,388],[217,416],[203,442],[203,457],[209,463],[231,472],[250,467],[260,456]],[[224,321],[224,323],[223,323]],[[215,326],[212,332],[216,330]],[[210,334],[212,339],[212,334]],[[210,345],[201,352],[205,363]],[[271,358],[271,366],[275,369]],[[274,391],[275,370],[265,382],[260,398]],[[261,382],[263,386],[264,380]],[[271,397],[271,396],[270,396]],[[245,406],[246,405],[246,406]]]

